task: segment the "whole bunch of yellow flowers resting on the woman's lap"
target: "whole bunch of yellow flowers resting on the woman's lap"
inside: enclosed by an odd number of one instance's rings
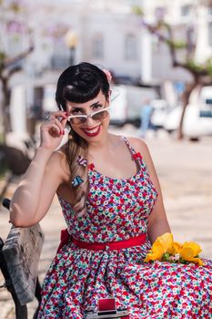
[[[184,242],[182,244],[174,242],[173,234],[166,232],[156,238],[144,262],[161,261],[184,264],[195,262],[199,266],[202,266],[203,262],[198,257],[201,251],[197,242]]]

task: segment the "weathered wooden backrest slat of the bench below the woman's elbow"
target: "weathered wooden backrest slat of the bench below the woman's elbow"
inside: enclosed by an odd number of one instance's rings
[[[38,262],[44,242],[44,233],[39,224],[29,228],[12,226],[3,254],[21,305],[35,298]]]

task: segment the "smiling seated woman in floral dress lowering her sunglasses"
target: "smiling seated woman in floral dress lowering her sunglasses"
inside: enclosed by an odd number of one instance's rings
[[[37,318],[85,318],[109,296],[131,319],[210,318],[212,262],[143,262],[170,229],[146,144],[107,131],[109,81],[89,63],[62,73],[60,110],[41,126],[40,146],[12,199],[15,226],[40,221],[55,193],[67,223]],[[57,149],[66,125],[68,142]]]

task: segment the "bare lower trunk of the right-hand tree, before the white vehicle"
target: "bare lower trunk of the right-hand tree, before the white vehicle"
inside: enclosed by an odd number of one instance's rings
[[[189,102],[189,98],[191,95],[191,92],[193,91],[193,89],[195,87],[197,87],[198,82],[197,81],[193,81],[192,83],[187,83],[186,85],[186,89],[182,95],[182,114],[181,114],[181,118],[179,121],[179,127],[177,129],[177,139],[183,139],[184,138],[184,134],[183,134],[183,123],[184,123],[184,118],[185,118],[185,114],[186,114],[186,110],[187,110],[187,105]]]

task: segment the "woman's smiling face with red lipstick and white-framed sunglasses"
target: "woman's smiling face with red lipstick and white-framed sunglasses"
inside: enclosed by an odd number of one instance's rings
[[[86,139],[87,142],[101,139],[107,132],[109,113],[105,110],[96,113],[94,117],[91,115],[94,112],[101,111],[108,107],[108,100],[102,91],[99,92],[96,98],[93,98],[86,103],[67,102],[66,110],[68,116],[77,116],[76,118],[70,118],[72,129],[74,129],[83,139]],[[85,116],[87,116],[87,118]]]

